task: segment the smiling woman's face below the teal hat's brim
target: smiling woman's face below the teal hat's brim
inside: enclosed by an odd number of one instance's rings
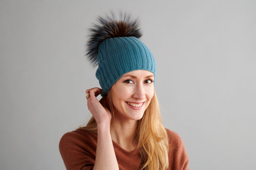
[[[111,87],[115,118],[140,120],[154,96],[154,74],[135,70],[124,74]]]

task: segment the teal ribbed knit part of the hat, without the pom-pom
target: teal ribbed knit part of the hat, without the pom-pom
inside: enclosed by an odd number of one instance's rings
[[[99,46],[99,67],[96,77],[106,96],[113,84],[123,74],[134,70],[147,70],[156,77],[154,56],[138,38],[115,37],[104,40]]]

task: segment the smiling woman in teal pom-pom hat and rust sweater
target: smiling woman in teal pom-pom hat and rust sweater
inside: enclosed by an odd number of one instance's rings
[[[156,63],[138,21],[99,18],[87,44],[100,88],[86,90],[92,118],[60,140],[67,169],[188,169],[179,135],[165,129],[154,90]],[[98,95],[102,96],[98,101]]]

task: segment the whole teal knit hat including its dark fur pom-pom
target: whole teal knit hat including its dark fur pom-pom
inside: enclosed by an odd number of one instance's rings
[[[98,65],[96,77],[106,96],[113,84],[123,74],[134,70],[147,70],[156,77],[154,56],[138,38],[141,37],[137,20],[125,15],[120,21],[115,18],[99,18],[101,25],[94,25],[87,43],[89,60]]]

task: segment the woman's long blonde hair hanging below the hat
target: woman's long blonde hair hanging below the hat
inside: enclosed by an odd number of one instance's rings
[[[100,103],[103,104],[103,101],[107,100],[108,107],[112,114],[111,120],[114,120],[115,107],[112,103],[110,90],[107,97],[101,98]],[[90,121],[83,129],[97,134],[97,122],[91,117]],[[167,132],[162,124],[161,112],[155,92],[143,117],[138,121],[134,140],[138,143],[137,149],[139,149],[142,158],[141,169],[165,170],[169,167]]]

